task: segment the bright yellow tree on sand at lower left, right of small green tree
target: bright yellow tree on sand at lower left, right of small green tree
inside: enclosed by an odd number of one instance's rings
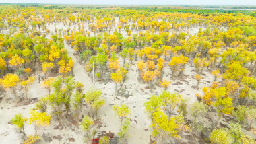
[[[37,135],[37,129],[39,127],[49,126],[51,122],[51,116],[46,114],[46,112],[37,112],[36,110],[31,110],[31,116],[29,119],[30,124],[34,123],[35,135]]]

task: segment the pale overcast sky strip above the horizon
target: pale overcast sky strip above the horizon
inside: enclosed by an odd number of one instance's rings
[[[0,3],[83,5],[256,5],[256,0],[0,0]]]

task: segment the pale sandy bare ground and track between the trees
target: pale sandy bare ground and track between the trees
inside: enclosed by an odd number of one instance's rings
[[[117,21],[117,19],[115,20]],[[61,23],[56,24],[57,28],[65,30],[68,26],[64,26]],[[117,26],[117,22],[116,22]],[[53,34],[55,34],[54,24],[50,24],[47,26]],[[74,25],[71,26],[71,30],[73,30]],[[78,28],[76,25],[75,28]],[[189,28],[189,34],[196,34],[199,28]],[[203,29],[204,30],[204,29]],[[186,31],[185,31],[186,32]],[[113,33],[113,31],[111,31]],[[134,32],[136,33],[136,32]],[[98,33],[97,33],[98,34]],[[127,36],[124,30],[121,31],[123,36]],[[94,33],[91,32],[91,36]],[[47,36],[48,37],[48,36]],[[75,65],[73,67],[74,79],[75,81],[80,81],[84,83],[84,92],[86,93],[89,89],[97,88],[102,90],[102,96],[104,100],[106,100],[106,104],[100,109],[99,116],[102,119],[102,127],[98,129],[98,131],[112,131],[117,133],[120,129],[119,118],[115,116],[112,106],[115,104],[126,104],[131,108],[131,114],[129,118],[131,118],[131,126],[128,131],[128,143],[150,143],[150,119],[145,113],[145,108],[143,107],[143,103],[147,102],[151,95],[156,94],[159,95],[164,90],[162,87],[158,87],[154,85],[153,92],[150,92],[150,89],[146,89],[148,86],[146,83],[143,83],[137,79],[139,74],[137,72],[137,68],[135,66],[135,61],[133,61],[133,65],[131,65],[131,69],[127,73],[127,81],[123,85],[125,89],[125,94],[131,94],[128,98],[122,96],[115,95],[115,83],[113,81],[108,81],[108,83],[103,83],[102,81],[96,81],[95,84],[92,83],[92,74],[88,75],[88,73],[84,70],[84,67],[79,64],[79,60],[73,55],[74,50],[71,46],[65,44],[65,48],[67,49],[67,53],[69,57],[75,61]],[[121,61],[121,63],[123,63]],[[171,69],[168,67],[166,63],[166,67],[164,68],[164,77],[167,81],[171,81],[172,84],[168,87],[168,92],[177,92],[181,94],[183,98],[186,98],[188,104],[195,102],[197,100],[195,94],[202,94],[201,88],[208,87],[211,85],[214,77],[210,74],[210,71],[203,71],[203,79],[199,85],[199,89],[194,89],[192,86],[197,84],[197,81],[193,79],[195,75],[193,65],[187,64],[185,67],[184,74],[181,79],[171,79]],[[39,72],[38,72],[39,73]],[[41,73],[41,72],[40,72]],[[34,75],[36,77],[35,83],[31,86],[28,92],[28,98],[31,100],[32,98],[40,98],[40,96],[46,96],[46,89],[42,89],[40,84],[38,83],[38,74]],[[110,77],[110,75],[106,75],[106,77]],[[41,81],[42,82],[42,81]],[[34,108],[34,101],[32,101],[28,105],[24,105],[26,100],[18,103],[18,100],[22,97],[23,91],[18,92],[17,96],[14,96],[11,93],[8,93],[9,100],[5,102],[2,100],[0,105],[0,143],[21,143],[22,137],[19,133],[15,131],[15,127],[11,124],[7,124],[11,118],[15,114],[22,114],[24,117],[28,118],[30,116],[30,109]],[[24,97],[24,96],[23,96]],[[188,106],[189,106],[188,105]],[[209,116],[210,118],[216,118],[216,115]],[[204,118],[206,127],[209,127],[210,122],[207,118]],[[57,127],[57,120],[52,120],[49,127],[41,128],[38,131],[39,135],[42,135],[42,141],[40,143],[70,143],[69,138],[73,137],[75,139],[74,143],[84,143],[84,135],[79,127],[75,127],[71,124],[70,121],[65,120],[63,118],[64,127],[61,130],[54,129]],[[25,131],[28,135],[32,135],[34,133],[34,128],[30,125],[26,124]],[[248,132],[246,132],[248,133]],[[59,138],[59,139],[58,139]],[[48,141],[51,139],[51,141]],[[186,141],[186,140],[184,140]]]

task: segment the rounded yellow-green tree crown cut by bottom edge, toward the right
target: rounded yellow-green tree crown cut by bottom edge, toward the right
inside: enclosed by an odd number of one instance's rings
[[[214,129],[210,135],[210,141],[214,144],[231,144],[234,139],[226,129]]]

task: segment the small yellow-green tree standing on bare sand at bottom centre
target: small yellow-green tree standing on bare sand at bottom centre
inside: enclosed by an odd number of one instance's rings
[[[115,114],[119,116],[119,120],[123,122],[123,118],[125,118],[130,113],[130,108],[125,106],[125,104],[121,104],[121,106],[113,106],[113,110]]]

